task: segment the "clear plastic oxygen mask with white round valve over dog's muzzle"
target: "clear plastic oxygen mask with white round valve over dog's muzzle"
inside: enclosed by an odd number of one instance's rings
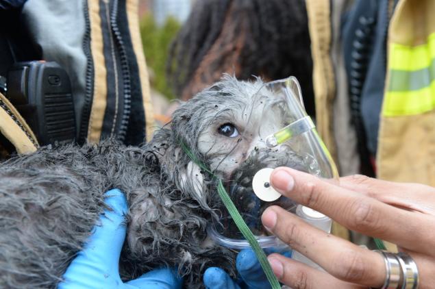
[[[229,181],[225,181],[225,189],[261,247],[284,247],[262,226],[262,213],[271,205],[279,205],[295,214],[302,211],[295,201],[273,190],[269,181],[273,168],[288,166],[328,179],[338,174],[330,153],[306,114],[295,77],[264,84],[252,99],[249,114],[255,117],[249,116],[248,121],[255,127],[255,136],[252,131],[241,131],[240,138],[255,137],[256,141],[252,142],[254,147],[246,148],[245,160],[234,169]],[[312,216],[316,217],[315,212]],[[249,248],[225,208],[221,210],[219,222],[209,226],[208,233],[225,247]]]

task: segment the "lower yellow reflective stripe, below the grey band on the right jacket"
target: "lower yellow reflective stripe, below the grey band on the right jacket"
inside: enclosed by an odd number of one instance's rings
[[[435,108],[435,81],[419,90],[387,91],[382,114],[401,116],[422,114]]]

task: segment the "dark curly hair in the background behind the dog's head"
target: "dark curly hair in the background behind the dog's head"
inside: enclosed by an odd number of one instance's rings
[[[304,0],[201,0],[173,41],[167,73],[186,100],[234,73],[238,79],[294,75],[314,115],[310,35]]]

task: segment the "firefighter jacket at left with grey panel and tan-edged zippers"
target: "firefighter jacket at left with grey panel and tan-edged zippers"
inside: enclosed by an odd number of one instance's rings
[[[138,0],[22,2],[18,11],[4,14],[14,16],[9,25],[3,20],[0,37],[16,48],[13,62],[54,61],[68,73],[75,140],[82,144],[111,137],[138,145],[150,138],[153,110]],[[0,75],[10,65],[2,60]],[[0,95],[0,131],[3,150],[12,144],[18,153],[27,153],[39,145],[5,94]]]

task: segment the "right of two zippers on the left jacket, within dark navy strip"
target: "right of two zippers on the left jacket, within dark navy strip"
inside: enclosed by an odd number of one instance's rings
[[[130,110],[131,110],[131,89],[130,89],[130,75],[129,75],[129,64],[127,60],[127,53],[125,52],[124,42],[123,38],[121,36],[121,32],[119,32],[118,24],[116,23],[117,15],[118,15],[118,0],[113,0],[112,5],[112,13],[110,16],[110,28],[112,31],[112,35],[110,37],[114,38],[114,43],[116,45],[116,48],[119,52],[119,58],[121,63],[121,75],[123,79],[123,93],[121,94],[121,97],[124,101],[123,105],[123,111],[121,112],[121,121],[119,125],[118,131],[116,131],[116,139],[123,142],[125,140],[125,135],[127,134],[127,125],[129,121],[130,116]],[[114,60],[115,62],[116,60]],[[118,112],[115,112],[115,115],[117,115]],[[113,123],[115,126],[116,123]]]

